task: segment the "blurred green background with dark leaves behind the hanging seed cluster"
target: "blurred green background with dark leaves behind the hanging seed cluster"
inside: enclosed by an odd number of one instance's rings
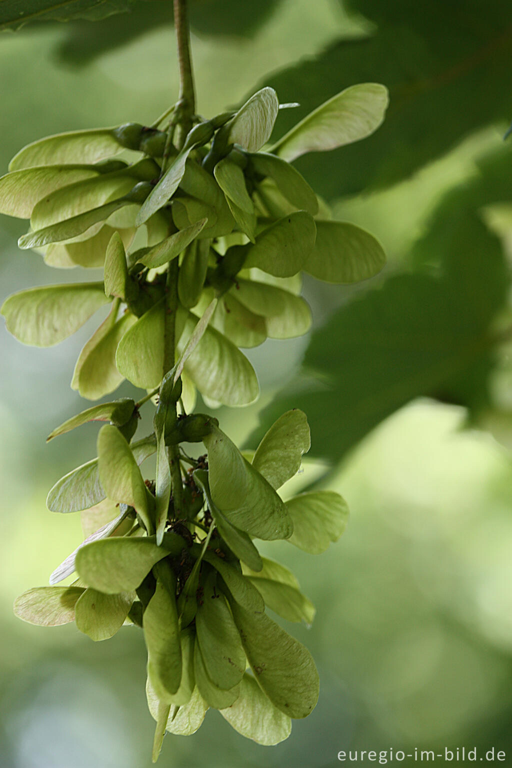
[[[244,740],[210,711],[195,736],[167,735],[160,763],[327,768],[339,764],[339,750],[415,746],[495,746],[510,761],[508,332],[474,351],[474,339],[510,325],[507,4],[192,5],[200,114],[272,84],[281,101],[301,104],[282,114],[277,135],[349,84],[388,85],[388,121],[375,137],[297,164],[339,218],[382,241],[388,266],[362,286],[306,280],[311,346],[306,338],[249,350],[260,402],[216,414],[249,445],[273,409],[309,402],[312,458],[293,482],[321,482],[351,508],[344,537],[320,558],[284,543],[264,547],[296,571],[317,607],[310,629],[287,628],[315,657],[319,704],[273,748]],[[38,137],[154,121],[177,97],[170,15],[170,2],[139,0],[131,15],[96,24],[5,32],[2,172]],[[0,227],[2,298],[32,285],[101,279],[80,268],[56,273],[35,253],[18,251],[25,222],[2,217]],[[383,297],[384,317],[375,296]],[[48,446],[45,437],[85,407],[69,382],[92,327],[51,349],[2,333],[2,768],[150,765],[142,634],[125,627],[93,644],[74,624],[44,630],[12,614],[16,595],[46,584],[81,540],[79,516],[48,512],[45,497],[95,455],[97,429],[85,425]],[[463,343],[472,350],[464,364]],[[329,382],[329,392],[304,393],[315,377]],[[132,390],[125,385],[119,394]]]

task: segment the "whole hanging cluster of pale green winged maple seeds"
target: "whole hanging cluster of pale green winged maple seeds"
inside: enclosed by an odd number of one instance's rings
[[[51,586],[15,603],[25,621],[75,621],[95,641],[124,624],[142,628],[154,759],[166,730],[194,733],[209,707],[264,744],[285,739],[291,719],[315,707],[312,657],[265,611],[311,624],[314,607],[255,540],[322,552],[345,528],[345,502],[327,491],[279,496],[309,450],[301,411],[282,415],[255,452],[242,453],[217,419],[193,409],[197,390],[211,407],[257,398],[240,348],[306,333],[302,272],[351,283],[382,268],[378,242],[332,220],[289,161],[371,134],[386,104],[381,85],[348,88],[262,150],[279,111],[275,91],[263,88],[236,113],[197,118],[180,151],[171,115],[169,131],[126,124],[36,141],[0,179],[0,211],[30,219],[19,247],[49,266],[104,266],[104,282],[10,296],[2,307],[8,330],[51,346],[110,304],[71,386],[90,400],[124,379],[158,392],[154,432],[142,439],[142,403],[128,398],[92,406],[51,433],[108,422],[97,458],[48,494],[51,511],[81,511],[88,538],[51,574]],[[168,359],[177,360],[170,370]],[[190,443],[202,444],[195,458]],[[140,465],[154,453],[156,478],[144,481]],[[57,586],[74,573],[71,586]]]

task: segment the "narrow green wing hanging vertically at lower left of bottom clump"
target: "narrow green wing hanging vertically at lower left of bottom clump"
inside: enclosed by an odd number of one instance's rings
[[[174,577],[176,584],[176,577]],[[176,598],[157,578],[157,588],[143,617],[147,674],[160,701],[170,703],[181,681],[181,643]]]

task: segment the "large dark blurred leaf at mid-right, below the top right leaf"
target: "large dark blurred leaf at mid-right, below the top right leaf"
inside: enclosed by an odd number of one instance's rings
[[[342,306],[312,334],[305,375],[268,409],[266,423],[290,405],[301,408],[308,414],[312,452],[337,460],[415,397],[434,396],[473,411],[485,405],[500,342],[491,326],[504,308],[509,279],[497,238],[475,203],[503,200],[506,187],[510,195],[506,160],[498,154],[484,176],[441,200],[428,234],[414,248],[417,262],[429,270],[435,265],[438,276],[425,268],[392,276]],[[311,374],[315,382],[307,378]]]

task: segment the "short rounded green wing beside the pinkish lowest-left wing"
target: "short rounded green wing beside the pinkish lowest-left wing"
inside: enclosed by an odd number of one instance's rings
[[[75,624],[91,640],[107,640],[123,626],[134,598],[134,592],[104,594],[89,587],[74,607]]]

